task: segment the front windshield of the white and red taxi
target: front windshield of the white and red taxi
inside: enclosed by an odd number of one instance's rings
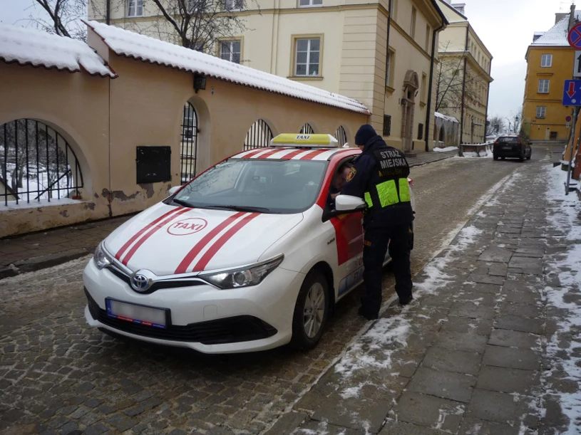
[[[173,197],[175,204],[207,209],[300,213],[317,199],[327,162],[228,159]]]

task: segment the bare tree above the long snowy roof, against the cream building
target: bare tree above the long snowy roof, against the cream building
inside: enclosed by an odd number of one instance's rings
[[[177,34],[180,45],[192,50],[210,53],[218,41],[248,30],[246,21],[236,14],[247,9],[245,0],[151,1],[163,17],[157,22],[160,37],[168,41]],[[239,45],[224,43],[223,48],[230,60],[240,62]]]

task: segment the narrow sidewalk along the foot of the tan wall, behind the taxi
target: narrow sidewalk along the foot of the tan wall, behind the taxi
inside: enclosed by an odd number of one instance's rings
[[[411,167],[421,166],[455,155],[456,152],[424,152],[409,159],[409,164]],[[129,218],[123,216],[0,239],[0,279],[86,256]]]

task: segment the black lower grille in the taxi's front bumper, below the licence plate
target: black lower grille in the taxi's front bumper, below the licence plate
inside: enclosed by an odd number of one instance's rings
[[[232,318],[207,320],[206,322],[188,325],[168,325],[158,329],[145,325],[130,323],[126,320],[110,318],[107,311],[101,309],[85,288],[89,311],[93,319],[125,332],[143,337],[158,338],[183,342],[200,342],[203,345],[223,345],[272,337],[277,330],[272,325],[252,315],[238,315]]]

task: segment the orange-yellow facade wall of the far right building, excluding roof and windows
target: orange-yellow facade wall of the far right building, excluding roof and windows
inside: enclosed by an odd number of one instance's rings
[[[552,54],[552,67],[541,67],[543,54]],[[528,51],[527,76],[523,123],[530,125],[531,140],[549,140],[550,133],[557,133],[557,140],[567,139],[570,128],[565,118],[572,108],[562,105],[565,80],[572,77],[575,51],[567,47],[530,47]],[[550,80],[549,93],[539,93],[539,80]],[[545,118],[537,117],[537,108],[546,108]]]

